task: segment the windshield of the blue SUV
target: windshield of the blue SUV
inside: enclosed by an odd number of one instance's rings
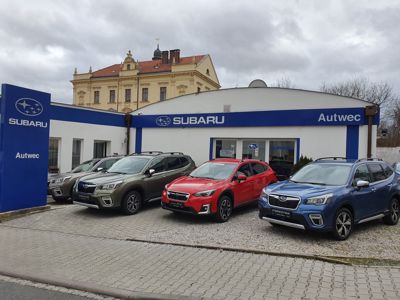
[[[290,181],[320,185],[345,185],[350,171],[351,165],[310,164],[294,174]]]

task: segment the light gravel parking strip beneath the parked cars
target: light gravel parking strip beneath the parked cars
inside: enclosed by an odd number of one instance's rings
[[[255,205],[235,210],[232,218],[222,224],[208,217],[171,213],[161,209],[159,203],[148,205],[133,216],[71,204],[51,205],[50,211],[4,225],[121,240],[400,261],[400,226],[387,226],[381,221],[359,225],[348,240],[338,242],[328,234],[271,226],[258,218]]]

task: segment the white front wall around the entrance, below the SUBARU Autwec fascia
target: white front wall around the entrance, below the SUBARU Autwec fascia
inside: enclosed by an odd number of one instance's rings
[[[143,128],[142,151],[180,151],[197,165],[209,159],[210,138],[300,139],[300,154],[316,159],[346,156],[345,126]],[[237,151],[237,155],[241,151]],[[214,150],[215,153],[215,150]]]

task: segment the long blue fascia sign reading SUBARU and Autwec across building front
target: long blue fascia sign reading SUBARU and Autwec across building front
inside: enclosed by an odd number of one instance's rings
[[[374,125],[379,123],[375,116]],[[366,125],[365,109],[330,108],[270,110],[232,113],[138,115],[133,127],[246,127],[246,126],[349,126]]]

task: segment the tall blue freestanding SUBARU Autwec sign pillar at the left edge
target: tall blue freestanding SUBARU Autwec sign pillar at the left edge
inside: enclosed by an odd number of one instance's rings
[[[3,84],[0,212],[46,205],[50,94]]]

